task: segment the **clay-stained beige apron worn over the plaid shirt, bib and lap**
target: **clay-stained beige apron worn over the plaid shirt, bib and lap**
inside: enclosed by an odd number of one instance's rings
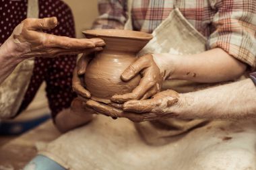
[[[205,50],[205,38],[184,19],[179,9],[174,9],[153,34],[154,39],[141,54],[193,54]],[[168,41],[172,46],[168,46]],[[185,48],[181,46],[184,44]],[[188,87],[189,82],[177,84]],[[256,169],[254,124],[251,120],[207,122],[168,119],[134,126],[125,118],[113,120],[96,116],[87,126],[41,145],[39,154],[73,170],[241,170],[247,165]]]

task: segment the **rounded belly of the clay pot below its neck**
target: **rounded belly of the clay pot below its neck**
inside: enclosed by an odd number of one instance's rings
[[[115,94],[131,92],[139,84],[140,76],[124,82],[121,74],[136,58],[134,53],[98,52],[86,68],[85,75],[86,89],[92,94],[92,99],[109,99]]]

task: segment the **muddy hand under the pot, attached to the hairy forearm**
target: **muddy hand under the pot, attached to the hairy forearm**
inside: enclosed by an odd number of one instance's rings
[[[93,100],[88,100],[86,105],[104,115],[143,122],[177,117],[178,115],[172,112],[172,107],[177,103],[179,103],[179,94],[176,91],[166,90],[157,93],[151,99],[127,101],[123,104],[123,109]]]

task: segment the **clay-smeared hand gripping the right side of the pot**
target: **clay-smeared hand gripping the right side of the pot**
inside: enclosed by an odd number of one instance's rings
[[[148,99],[152,97],[152,95],[160,91],[166,76],[166,70],[163,66],[162,58],[158,58],[154,54],[141,56],[121,75],[123,81],[129,81],[140,73],[142,78],[139,85],[131,93],[113,95],[111,100],[117,103],[124,103],[131,99]]]

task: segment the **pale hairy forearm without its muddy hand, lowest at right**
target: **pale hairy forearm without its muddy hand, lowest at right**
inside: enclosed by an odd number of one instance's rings
[[[170,107],[180,118],[243,119],[256,116],[256,87],[251,79],[180,94]]]

